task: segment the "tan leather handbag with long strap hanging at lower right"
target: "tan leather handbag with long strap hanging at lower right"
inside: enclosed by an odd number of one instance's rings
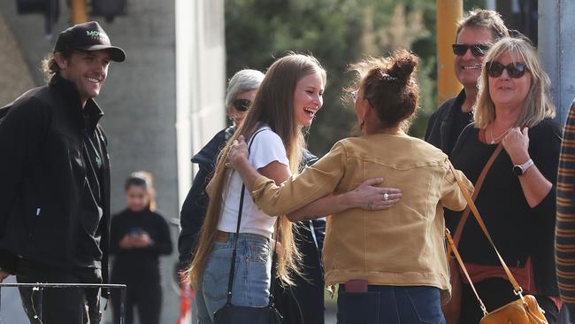
[[[483,312],[483,318],[479,321],[479,323],[480,324],[508,324],[508,323],[548,324],[548,321],[545,319],[545,316],[543,315],[543,310],[541,309],[540,305],[537,304],[537,300],[535,299],[535,297],[533,297],[532,295],[523,296],[523,289],[519,286],[519,284],[515,280],[515,277],[513,277],[513,274],[511,274],[509,267],[505,264],[505,261],[503,260],[499,251],[497,251],[495,243],[491,239],[491,235],[489,235],[485,223],[481,219],[479,211],[477,210],[477,207],[473,203],[472,198],[469,197],[469,194],[467,193],[467,190],[465,189],[463,182],[457,176],[453,166],[450,166],[450,168],[451,172],[456,177],[457,184],[464,193],[465,200],[467,200],[467,204],[469,205],[469,208],[472,210],[473,216],[475,216],[475,219],[479,223],[479,227],[483,230],[483,233],[486,235],[487,240],[489,241],[489,243],[491,243],[491,246],[495,250],[497,257],[499,258],[499,261],[501,262],[503,269],[505,270],[505,274],[507,274],[511,284],[513,285],[513,291],[518,297],[517,300],[507,305],[503,305],[502,307],[497,308],[495,311],[487,312],[487,309],[483,304],[483,301],[481,301],[481,298],[479,298],[479,294],[477,293],[477,290],[475,289],[475,286],[473,285],[473,282],[469,274],[467,273],[467,269],[464,266],[464,261],[459,255],[459,251],[457,251],[456,244],[453,242],[453,239],[449,234],[449,230],[446,228],[445,235],[448,240],[449,246],[451,247],[451,250],[455,254],[457,262],[459,263],[459,266],[461,266],[461,269],[464,272],[467,281],[471,284],[473,293],[475,294],[475,297],[477,297],[477,300],[479,301],[479,307]]]

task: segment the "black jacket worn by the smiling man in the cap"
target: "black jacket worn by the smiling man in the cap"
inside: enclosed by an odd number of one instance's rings
[[[88,99],[86,107],[100,108]],[[84,108],[86,109],[86,108]],[[27,91],[0,122],[0,266],[11,255],[63,270],[73,268],[80,228],[84,117],[72,82],[55,75]],[[108,282],[110,163],[103,129],[95,129],[102,157],[103,218],[98,232],[103,282]]]

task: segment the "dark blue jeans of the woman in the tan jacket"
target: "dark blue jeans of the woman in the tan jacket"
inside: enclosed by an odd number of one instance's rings
[[[368,286],[337,298],[338,324],[445,324],[440,290],[427,286]]]

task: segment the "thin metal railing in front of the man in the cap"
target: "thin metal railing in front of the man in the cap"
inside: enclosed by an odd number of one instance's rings
[[[103,283],[4,283],[0,282],[0,289],[3,287],[29,287],[33,291],[38,291],[38,319],[42,322],[42,292],[43,289],[70,289],[70,288],[99,288],[99,289],[119,289],[119,324],[124,324],[126,320],[126,285],[125,284],[103,284]],[[81,322],[80,322],[81,323]]]

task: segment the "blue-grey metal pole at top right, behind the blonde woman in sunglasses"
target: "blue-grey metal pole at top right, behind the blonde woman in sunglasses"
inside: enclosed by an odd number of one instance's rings
[[[575,98],[575,1],[538,2],[539,57],[551,79],[551,96],[556,105],[556,120],[564,124]]]

